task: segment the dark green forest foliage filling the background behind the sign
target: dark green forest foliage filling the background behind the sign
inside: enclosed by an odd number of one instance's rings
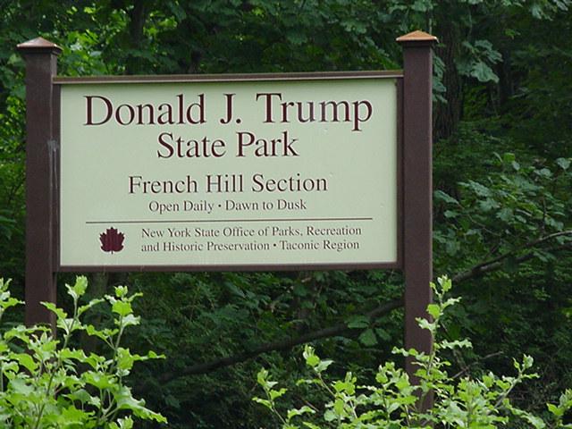
[[[569,0],[0,0],[0,272],[21,297],[25,136],[16,44],[41,35],[63,46],[60,73],[72,76],[366,70],[399,68],[394,39],[424,29],[440,38],[434,271],[450,273],[463,296],[447,339],[469,335],[475,346],[450,360],[458,371],[504,374],[503,355],[526,352],[540,378],[518,387],[515,402],[543,412],[572,385],[571,7]],[[249,400],[261,363],[296,380],[298,348],[315,341],[337,363],[332,371],[349,366],[373,379],[402,336],[400,273],[96,274],[88,294],[109,294],[116,284],[145,292],[134,303],[140,330],[124,340],[134,353],[168,357],[134,369],[134,389],[172,427],[272,427]],[[96,309],[94,324],[106,315]]]

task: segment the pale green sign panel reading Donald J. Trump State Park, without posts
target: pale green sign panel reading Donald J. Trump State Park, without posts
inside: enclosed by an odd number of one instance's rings
[[[397,265],[395,73],[134,79],[56,80],[62,267]]]

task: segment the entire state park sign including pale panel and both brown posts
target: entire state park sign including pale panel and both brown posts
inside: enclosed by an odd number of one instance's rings
[[[57,272],[392,268],[428,352],[436,38],[397,41],[403,71],[87,78],[19,45],[26,323]]]

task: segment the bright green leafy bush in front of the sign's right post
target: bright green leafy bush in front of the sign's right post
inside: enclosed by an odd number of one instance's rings
[[[432,283],[432,288],[436,302],[430,304],[427,311],[433,321],[419,319],[418,323],[429,330],[435,339],[445,310],[458,299],[445,299],[445,293],[451,288],[447,278],[440,278],[438,285]],[[317,387],[326,393],[329,400],[317,407],[307,404],[282,413],[278,399],[287,389],[277,388],[277,383],[269,378],[265,369],[257,376],[265,397],[254,400],[273,412],[282,429],[484,429],[517,423],[535,429],[572,428],[572,424],[563,421],[565,413],[572,408],[572,390],[565,391],[558,404],[548,404],[547,418],[517,408],[509,399],[510,392],[517,384],[536,377],[529,371],[533,366],[532,357],[524,356],[521,362],[514,361],[517,370],[515,376],[498,376],[492,372],[479,376],[449,374],[447,368],[451,364],[442,357],[443,352],[470,347],[471,343],[467,340],[439,340],[434,342],[429,354],[415,349],[395,349],[395,354],[412,358],[416,363],[417,383],[412,383],[408,374],[395,363],[387,362],[378,369],[376,385],[359,385],[357,377],[350,372],[342,380],[327,380],[324,374],[332,361],[320,359],[315,350],[307,346],[304,357],[313,376],[300,380],[299,384]]]

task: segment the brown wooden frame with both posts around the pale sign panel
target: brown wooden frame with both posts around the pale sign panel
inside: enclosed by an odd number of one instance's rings
[[[398,136],[400,195],[398,262],[390,265],[289,265],[239,267],[252,270],[283,269],[400,269],[405,274],[405,347],[428,352],[432,348],[430,333],[422,330],[416,318],[428,318],[427,305],[432,301],[429,282],[433,278],[433,210],[432,210],[432,55],[436,38],[414,31],[397,38],[403,46],[403,71],[364,71],[334,73],[295,73],[288,75],[241,76],[148,76],[94,77],[83,81],[189,81],[189,80],[272,80],[333,79],[335,77],[371,77],[389,75],[399,80]],[[44,38],[18,45],[26,62],[26,323],[51,324],[54,315],[42,301],[55,302],[55,273],[70,271],[58,260],[58,172],[60,138],[60,86],[71,78],[57,77],[57,56],[62,49]],[[81,267],[80,267],[81,268]],[[74,271],[83,271],[73,267]],[[104,267],[84,267],[98,271]],[[227,270],[229,266],[209,269]],[[236,268],[236,267],[234,267]],[[109,271],[144,271],[145,267],[114,267]],[[205,267],[172,266],[162,271],[204,271]],[[159,271],[156,267],[153,271]],[[408,374],[415,368],[407,362]]]

